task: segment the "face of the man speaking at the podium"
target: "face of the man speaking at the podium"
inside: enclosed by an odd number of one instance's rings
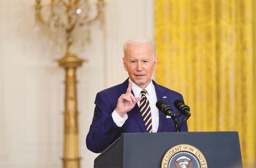
[[[151,76],[156,69],[157,58],[152,56],[150,44],[127,44],[123,58],[123,66],[131,81],[144,89],[151,82]]]

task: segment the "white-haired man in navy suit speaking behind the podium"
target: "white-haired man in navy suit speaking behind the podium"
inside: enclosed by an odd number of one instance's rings
[[[94,117],[86,137],[86,145],[92,152],[100,153],[123,132],[174,132],[171,118],[156,107],[161,100],[173,108],[181,94],[162,87],[152,78],[157,65],[156,49],[150,39],[128,40],[123,47],[123,66],[129,78],[117,86],[97,93]],[[180,123],[183,117],[180,117]],[[186,123],[181,131],[188,131]]]

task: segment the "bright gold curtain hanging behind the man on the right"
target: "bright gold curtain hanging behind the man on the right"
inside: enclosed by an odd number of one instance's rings
[[[156,81],[183,94],[189,131],[238,131],[256,153],[254,0],[155,0]]]

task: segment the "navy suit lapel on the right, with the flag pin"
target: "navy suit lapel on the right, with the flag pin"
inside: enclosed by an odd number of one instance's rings
[[[157,96],[157,101],[163,101],[165,103],[169,102],[169,96],[165,95],[165,91],[162,87],[160,87],[158,84],[156,84],[155,81],[153,81],[153,84],[155,86],[156,89],[156,96]],[[164,98],[165,97],[165,98]],[[162,113],[162,111],[159,111],[159,126],[157,129],[157,132],[162,132],[164,125],[165,125],[165,121],[166,121],[166,116]]]

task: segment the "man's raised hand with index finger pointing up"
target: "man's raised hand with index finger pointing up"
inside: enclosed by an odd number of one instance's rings
[[[125,113],[131,111],[134,108],[137,102],[141,100],[140,97],[134,97],[131,93],[131,81],[129,81],[129,85],[125,94],[122,94],[117,100],[117,108],[115,109],[121,117],[125,115]]]

